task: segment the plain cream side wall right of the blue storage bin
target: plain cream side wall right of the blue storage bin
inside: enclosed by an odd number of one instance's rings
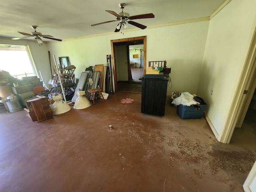
[[[249,34],[255,29],[255,7],[255,0],[232,0],[210,20],[198,94],[208,104],[205,112],[218,140],[245,63]]]

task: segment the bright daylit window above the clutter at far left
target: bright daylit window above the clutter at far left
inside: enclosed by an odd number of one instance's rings
[[[24,76],[36,76],[28,56],[27,46],[0,44],[0,70],[21,79]]]

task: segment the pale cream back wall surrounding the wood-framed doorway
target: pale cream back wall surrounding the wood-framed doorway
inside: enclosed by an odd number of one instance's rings
[[[198,89],[200,70],[204,56],[204,48],[209,21],[149,28],[137,31],[124,31],[124,34],[104,34],[48,43],[51,54],[56,58],[69,56],[71,64],[76,66],[76,77],[90,65],[106,65],[106,55],[111,53],[110,40],[147,36],[146,62],[166,60],[172,67],[170,77],[172,89],[196,93]],[[147,66],[147,65],[146,65]]]

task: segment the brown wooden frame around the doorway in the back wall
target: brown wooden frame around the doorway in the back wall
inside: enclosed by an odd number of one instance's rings
[[[126,42],[126,41],[134,41],[134,40],[143,40],[143,48],[144,48],[144,67],[143,67],[143,73],[146,73],[146,36],[140,36],[140,37],[131,37],[131,38],[124,38],[124,39],[115,39],[110,40],[111,43],[111,57],[112,57],[112,64],[113,64],[113,76],[114,76],[114,92],[118,92],[118,86],[117,86],[117,75],[116,75],[116,57],[114,52],[114,43],[117,42]]]

